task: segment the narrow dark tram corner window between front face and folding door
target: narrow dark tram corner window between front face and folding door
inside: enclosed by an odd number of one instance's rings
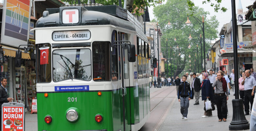
[[[115,41],[117,41],[117,31],[114,30],[112,32],[111,36],[111,47],[112,47],[112,52],[111,52],[111,74],[112,74],[112,81],[117,81],[118,80],[118,52],[117,52],[117,46],[114,46]]]

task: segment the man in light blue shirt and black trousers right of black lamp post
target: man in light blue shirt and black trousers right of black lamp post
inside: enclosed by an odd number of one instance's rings
[[[242,85],[244,85],[244,89],[245,89],[245,97],[244,97],[245,115],[249,115],[249,102],[251,103],[251,109],[252,109],[254,90],[256,86],[256,81],[254,77],[250,76],[250,70],[245,70],[245,77],[244,77],[244,80],[242,81]]]

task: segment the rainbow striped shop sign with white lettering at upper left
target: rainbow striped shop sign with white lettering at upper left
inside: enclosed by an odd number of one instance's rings
[[[30,12],[30,0],[4,1],[1,43],[13,47],[27,44]]]

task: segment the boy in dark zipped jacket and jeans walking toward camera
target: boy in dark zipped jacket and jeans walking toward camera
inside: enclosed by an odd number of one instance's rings
[[[178,99],[181,102],[181,119],[187,120],[188,106],[191,98],[190,85],[186,82],[187,76],[182,76],[182,83],[179,85]]]

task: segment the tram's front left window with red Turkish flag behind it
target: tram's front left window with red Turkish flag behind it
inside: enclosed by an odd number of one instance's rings
[[[51,44],[36,44],[36,76],[37,83],[50,83],[52,81],[52,52]]]

